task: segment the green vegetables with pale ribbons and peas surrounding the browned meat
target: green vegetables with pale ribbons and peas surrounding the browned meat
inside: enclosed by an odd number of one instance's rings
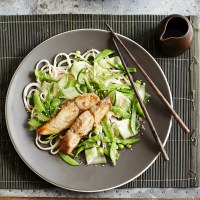
[[[35,70],[39,88],[26,95],[26,100],[33,104],[28,121],[30,130],[36,130],[56,116],[63,102],[80,94],[96,93],[101,99],[107,96],[111,99],[112,107],[106,117],[93,129],[92,134],[78,144],[73,154],[59,152],[60,157],[70,165],[79,165],[75,159],[82,152],[88,165],[105,164],[106,157],[116,165],[120,151],[132,148],[139,141],[139,117],[144,117],[144,114],[120,58],[110,57],[113,53],[113,50],[104,49],[101,52],[93,51],[90,56],[81,56],[77,51],[70,58],[71,66],[61,76],[55,76],[48,70]],[[129,71],[135,73],[136,69],[129,68]],[[148,99],[145,83],[139,80],[135,83],[145,102]],[[62,133],[44,140],[53,141],[60,136]]]

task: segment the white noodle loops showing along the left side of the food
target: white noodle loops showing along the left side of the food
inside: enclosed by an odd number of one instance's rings
[[[48,60],[44,59],[37,63],[35,70],[44,71],[55,80],[59,80],[62,76],[69,72],[74,58],[82,58],[88,60],[91,57],[94,58],[97,54],[99,54],[99,51],[96,49],[90,49],[82,55],[76,52],[69,54],[59,53],[55,56],[53,65]],[[62,60],[58,61],[58,58],[62,58]],[[35,109],[33,105],[31,105],[29,96],[32,96],[35,91],[40,92],[40,98],[42,101],[44,101],[47,94],[42,92],[41,82],[38,78],[36,79],[36,82],[29,83],[23,91],[24,106],[27,112],[30,113],[31,117],[34,116]],[[36,133],[35,144],[41,150],[50,151],[51,154],[57,154],[59,151],[58,146],[61,138],[62,136],[55,137],[54,139],[46,139],[40,134]]]

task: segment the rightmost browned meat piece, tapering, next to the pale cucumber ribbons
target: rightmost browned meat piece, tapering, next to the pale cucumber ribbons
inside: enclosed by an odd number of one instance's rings
[[[90,112],[94,116],[94,126],[97,126],[110,110],[112,103],[109,97],[101,100],[97,105],[90,108]]]

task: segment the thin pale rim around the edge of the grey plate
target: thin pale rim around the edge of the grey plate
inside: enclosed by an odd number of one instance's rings
[[[113,187],[109,187],[109,188],[105,188],[105,189],[99,189],[99,190],[80,190],[80,189],[73,189],[73,188],[69,188],[69,187],[64,187],[60,184],[57,184],[57,183],[54,183],[53,181],[50,181],[48,178],[44,177],[43,175],[39,174],[29,163],[27,163],[27,161],[25,160],[25,158],[23,158],[23,156],[20,154],[17,146],[15,145],[15,142],[14,142],[14,139],[12,137],[12,134],[11,134],[11,130],[10,130],[10,127],[8,126],[9,124],[9,120],[8,120],[8,97],[10,95],[10,88],[12,86],[12,83],[13,83],[13,80],[14,78],[16,77],[17,75],[17,72],[18,70],[21,68],[21,66],[23,65],[24,61],[27,59],[27,57],[29,57],[29,55],[37,50],[40,46],[42,46],[44,43],[48,42],[49,40],[51,40],[52,38],[55,38],[55,37],[59,37],[60,35],[64,35],[64,34],[67,34],[67,33],[73,33],[73,32],[79,32],[79,31],[99,31],[99,32],[106,32],[106,33],[110,33],[110,31],[107,31],[107,30],[104,30],[104,29],[93,29],[93,28],[83,28],[83,29],[74,29],[74,30],[70,30],[70,31],[65,31],[65,32],[62,32],[62,33],[59,33],[59,34],[56,34],[46,40],[44,40],[43,42],[41,42],[40,44],[38,44],[36,47],[34,47],[24,58],[23,60],[20,62],[20,64],[18,65],[15,73],[13,74],[11,80],[10,80],[10,83],[9,83],[9,86],[8,86],[8,89],[7,89],[7,93],[6,93],[6,100],[5,100],[5,121],[6,121],[6,127],[7,127],[7,130],[8,130],[8,134],[9,134],[9,137],[10,137],[10,140],[14,146],[14,149],[16,150],[16,152],[18,153],[19,157],[22,159],[22,161],[26,164],[26,166],[28,166],[28,168],[30,170],[32,170],[36,175],[38,175],[40,178],[42,178],[43,180],[47,181],[48,183],[51,183],[52,185],[55,185],[55,186],[58,186],[62,189],[66,189],[66,190],[70,190],[70,191],[75,191],[75,192],[84,192],[84,193],[89,193],[89,192],[102,192],[102,191],[108,191],[108,190],[111,190],[111,189],[114,189],[114,188],[117,188],[117,187],[120,187],[122,185],[125,185],[127,183],[129,183],[130,181],[133,181],[134,179],[136,179],[137,177],[139,177],[141,174],[143,174],[154,162],[155,160],[158,158],[158,156],[160,155],[161,152],[158,152],[157,155],[155,156],[155,158],[149,163],[148,166],[146,166],[140,173],[138,173],[136,176],[132,177],[131,179],[127,180],[126,182],[123,182],[119,185],[115,185]],[[162,74],[163,78],[164,78],[164,81],[166,83],[166,86],[167,86],[167,90],[169,91],[169,103],[170,105],[173,107],[173,101],[172,101],[172,93],[171,93],[171,89],[170,89],[170,86],[169,86],[169,83],[167,81],[167,78],[162,70],[162,68],[160,67],[160,65],[158,64],[158,62],[156,61],[156,59],[144,48],[142,47],[140,44],[138,44],[137,42],[135,42],[134,40],[128,38],[127,36],[124,36],[122,34],[118,34],[117,35],[121,38],[124,38],[126,40],[128,40],[129,42],[131,43],[134,43],[134,45],[136,46],[139,46],[154,62],[155,64],[157,65],[160,73]],[[165,137],[165,140],[164,142],[162,143],[163,146],[165,147],[166,145],[166,142],[169,138],[169,135],[170,135],[170,130],[171,130],[171,127],[172,127],[172,118],[173,116],[171,115],[171,118],[170,118],[170,121],[169,121],[169,126],[168,126],[168,130],[167,130],[167,134],[166,134],[166,137]]]

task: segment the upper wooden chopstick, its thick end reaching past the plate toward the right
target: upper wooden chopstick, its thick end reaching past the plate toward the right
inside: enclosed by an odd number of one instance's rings
[[[176,111],[172,108],[172,106],[169,104],[169,102],[165,99],[165,97],[163,96],[163,94],[160,92],[160,90],[157,88],[157,86],[153,83],[153,81],[150,79],[150,77],[147,75],[147,73],[145,72],[145,70],[141,67],[141,65],[137,62],[137,60],[133,57],[133,55],[130,53],[130,51],[126,48],[126,46],[123,44],[123,42],[119,39],[119,37],[117,36],[117,34],[112,30],[112,28],[105,23],[106,26],[108,27],[108,29],[110,30],[110,32],[112,33],[113,38],[116,39],[116,41],[119,42],[119,44],[123,47],[123,49],[125,50],[125,52],[128,54],[128,56],[131,58],[131,60],[134,62],[134,64],[139,68],[139,70],[142,72],[143,76],[146,78],[146,80],[149,82],[149,84],[151,85],[151,87],[154,89],[154,91],[156,92],[156,94],[159,96],[159,98],[162,100],[162,102],[166,105],[166,107],[168,108],[168,110],[171,112],[171,114],[173,115],[173,117],[176,119],[176,121],[179,123],[179,125],[181,126],[181,128],[183,129],[183,131],[185,133],[189,133],[190,130],[189,128],[185,125],[185,123],[183,122],[183,120],[178,116],[178,114],[176,113]]]

